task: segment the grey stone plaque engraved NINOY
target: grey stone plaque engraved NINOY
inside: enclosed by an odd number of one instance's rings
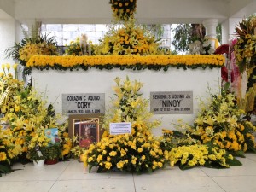
[[[150,92],[150,111],[154,114],[192,114],[193,91]]]

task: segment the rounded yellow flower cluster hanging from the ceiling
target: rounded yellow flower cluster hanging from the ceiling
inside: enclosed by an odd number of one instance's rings
[[[110,0],[113,17],[117,20],[128,20],[136,10],[137,0]]]

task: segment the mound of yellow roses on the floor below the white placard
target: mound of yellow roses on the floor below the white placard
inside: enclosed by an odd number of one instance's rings
[[[125,172],[153,172],[163,167],[165,161],[159,142],[148,141],[143,134],[104,137],[84,153],[84,166],[98,166],[98,172],[116,168]]]

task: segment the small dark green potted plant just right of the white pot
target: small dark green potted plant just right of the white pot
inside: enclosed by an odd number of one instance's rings
[[[59,161],[61,155],[61,143],[49,143],[49,146],[45,148],[45,164],[52,165]]]

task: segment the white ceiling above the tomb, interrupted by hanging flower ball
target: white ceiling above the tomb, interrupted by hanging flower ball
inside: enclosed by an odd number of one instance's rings
[[[0,19],[3,13],[8,13],[21,23],[35,19],[43,23],[110,23],[112,13],[108,2],[0,0]],[[141,23],[201,23],[212,18],[221,23],[253,13],[256,0],[137,0],[136,18]]]

